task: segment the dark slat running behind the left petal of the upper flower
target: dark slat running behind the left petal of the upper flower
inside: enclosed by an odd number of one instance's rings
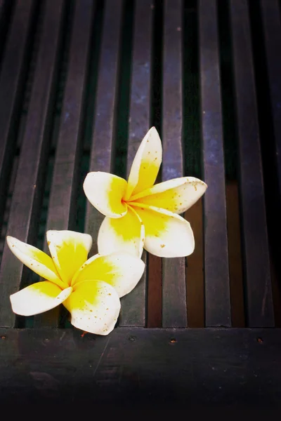
[[[111,173],[112,170],[122,6],[122,0],[107,0],[105,2],[89,171]],[[103,218],[104,216],[87,201],[85,232],[93,237],[91,254],[98,253],[96,241]]]

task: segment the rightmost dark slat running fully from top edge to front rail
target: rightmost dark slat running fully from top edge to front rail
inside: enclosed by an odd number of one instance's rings
[[[274,326],[273,300],[247,1],[230,1],[230,18],[240,155],[247,322],[250,327],[269,327]]]

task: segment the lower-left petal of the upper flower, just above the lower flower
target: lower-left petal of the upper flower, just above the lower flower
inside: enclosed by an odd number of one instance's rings
[[[145,230],[143,222],[132,208],[123,218],[105,218],[98,232],[98,252],[111,254],[117,251],[141,258]]]

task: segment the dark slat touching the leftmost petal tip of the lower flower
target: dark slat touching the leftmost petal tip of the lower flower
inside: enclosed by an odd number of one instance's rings
[[[44,189],[50,105],[53,96],[62,12],[62,0],[46,2],[34,84],[8,221],[7,234],[16,236],[27,243],[33,243],[36,239],[40,199]],[[15,314],[11,311],[9,295],[20,288],[22,267],[21,262],[15,258],[6,244],[0,272],[0,326],[14,326]]]

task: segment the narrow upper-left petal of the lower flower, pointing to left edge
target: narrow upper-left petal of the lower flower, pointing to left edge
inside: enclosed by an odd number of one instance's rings
[[[42,278],[56,283],[61,288],[65,288],[65,284],[61,281],[53,260],[44,251],[30,246],[30,244],[23,243],[12,236],[7,236],[7,243],[12,253],[20,262]]]

